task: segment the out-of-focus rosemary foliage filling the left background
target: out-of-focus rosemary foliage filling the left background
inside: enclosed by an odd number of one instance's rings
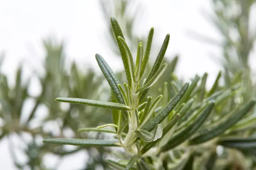
[[[103,161],[103,153],[108,152],[104,148],[96,148],[99,155],[95,155],[95,151],[90,150],[91,147],[75,147],[70,150],[62,146],[42,144],[42,138],[49,137],[94,136],[102,139],[103,136],[99,133],[95,136],[95,134],[81,134],[77,130],[80,126],[97,126],[111,122],[111,118],[103,114],[106,110],[55,103],[54,99],[60,95],[102,99],[102,95],[99,94],[102,94],[104,78],[96,76],[90,69],[86,74],[81,73],[75,63],[71,65],[70,70],[66,70],[63,43],[45,40],[44,48],[46,51],[44,74],[38,72],[41,70],[34,70],[33,75],[24,81],[24,65],[20,65],[16,72],[15,85],[12,86],[10,78],[0,73],[0,140],[8,139],[12,159],[16,167],[22,170],[47,169],[47,164],[42,162],[42,159],[49,153],[58,156],[61,161],[61,158],[81,150],[87,150],[91,159],[91,163],[84,163],[87,169],[95,169],[99,164],[105,169],[108,168]],[[3,57],[1,61],[3,62]],[[31,85],[35,82],[39,84],[38,89],[41,86],[39,94],[31,91],[33,88]],[[110,95],[106,96],[110,98]],[[46,112],[45,116],[41,115],[43,111]],[[57,128],[52,131],[56,124]],[[16,146],[17,140],[20,144]],[[17,151],[20,150],[28,158],[25,162],[16,156]],[[58,165],[57,163],[53,169]]]

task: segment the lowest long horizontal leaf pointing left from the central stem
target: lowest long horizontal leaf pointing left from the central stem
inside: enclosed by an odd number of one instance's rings
[[[67,139],[67,138],[55,138],[44,139],[44,143],[51,144],[69,144],[77,146],[106,146],[106,147],[120,147],[119,142],[108,141],[101,139]]]

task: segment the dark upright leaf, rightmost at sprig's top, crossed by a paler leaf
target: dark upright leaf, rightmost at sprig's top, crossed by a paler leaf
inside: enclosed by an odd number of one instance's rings
[[[160,49],[160,52],[157,56],[157,59],[156,61],[154,62],[154,65],[151,69],[151,71],[149,72],[148,74],[148,77],[146,78],[145,82],[143,85],[147,84],[148,81],[154,76],[154,74],[158,71],[158,69],[160,68],[160,65],[163,61],[163,57],[166,53],[166,50],[167,50],[167,47],[168,47],[168,44],[169,44],[169,39],[170,39],[170,34],[167,34],[166,35],[166,38],[164,39],[163,41],[163,45]],[[148,89],[146,89],[145,91],[143,91],[141,94],[140,94],[140,100],[139,102],[141,103],[143,101],[143,99],[145,98],[146,94],[148,93]]]

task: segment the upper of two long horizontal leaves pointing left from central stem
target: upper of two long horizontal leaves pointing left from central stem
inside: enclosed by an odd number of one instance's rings
[[[82,105],[90,105],[90,106],[96,106],[96,107],[100,107],[100,108],[112,108],[112,109],[117,109],[117,110],[122,110],[122,111],[130,110],[130,108],[128,106],[120,104],[120,103],[103,102],[103,101],[90,100],[90,99],[58,97],[55,99],[55,101],[82,104]]]

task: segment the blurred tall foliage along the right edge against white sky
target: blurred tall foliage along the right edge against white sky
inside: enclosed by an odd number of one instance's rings
[[[251,68],[255,68],[255,64],[250,62],[255,53],[256,27],[253,16],[255,5],[255,0],[212,0],[214,14],[204,11],[203,15],[218,30],[221,42],[194,32],[197,40],[217,45],[222,49],[223,54],[218,57],[218,64],[224,70],[224,85],[227,88],[232,86],[231,77],[243,80],[246,90],[241,93],[242,101],[256,97],[256,77]],[[250,128],[243,135],[255,136],[254,125]],[[234,169],[241,160],[247,161],[247,157],[255,159],[254,156],[248,156],[248,152],[241,155],[236,150],[224,150],[226,151],[238,156],[230,159],[226,169]],[[256,169],[255,163],[249,169]]]

